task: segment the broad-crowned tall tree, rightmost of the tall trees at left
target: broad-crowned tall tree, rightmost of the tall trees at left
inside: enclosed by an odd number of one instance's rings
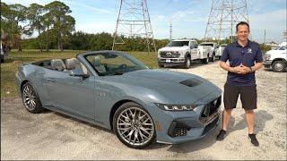
[[[57,31],[57,47],[63,51],[63,38],[74,31],[74,18],[68,15],[68,13],[72,13],[72,11],[67,5],[59,1],[47,4],[45,8],[48,9],[50,21]]]

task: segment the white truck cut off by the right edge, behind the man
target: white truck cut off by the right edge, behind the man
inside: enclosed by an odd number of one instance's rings
[[[284,72],[287,66],[287,46],[286,43],[274,50],[269,50],[264,55],[263,65],[265,68],[272,68],[274,72]]]

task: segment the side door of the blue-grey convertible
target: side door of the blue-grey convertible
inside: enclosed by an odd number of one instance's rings
[[[52,71],[47,75],[46,87],[53,106],[65,112],[94,120],[95,77],[70,76],[69,72]]]

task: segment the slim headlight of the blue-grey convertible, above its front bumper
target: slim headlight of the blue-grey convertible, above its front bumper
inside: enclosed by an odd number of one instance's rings
[[[155,103],[155,105],[166,111],[193,111],[196,109],[196,105],[171,105],[159,103]]]

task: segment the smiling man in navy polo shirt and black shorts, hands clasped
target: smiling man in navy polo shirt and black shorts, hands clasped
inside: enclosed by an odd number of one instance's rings
[[[257,43],[248,40],[249,25],[247,22],[240,21],[236,25],[236,34],[237,41],[225,47],[220,61],[220,66],[228,71],[228,76],[224,85],[222,130],[216,139],[223,140],[225,138],[231,111],[236,108],[240,94],[248,124],[248,139],[257,147],[259,142],[254,132],[253,110],[257,108],[255,72],[262,67],[262,52]],[[226,64],[227,60],[229,60],[229,64]]]

